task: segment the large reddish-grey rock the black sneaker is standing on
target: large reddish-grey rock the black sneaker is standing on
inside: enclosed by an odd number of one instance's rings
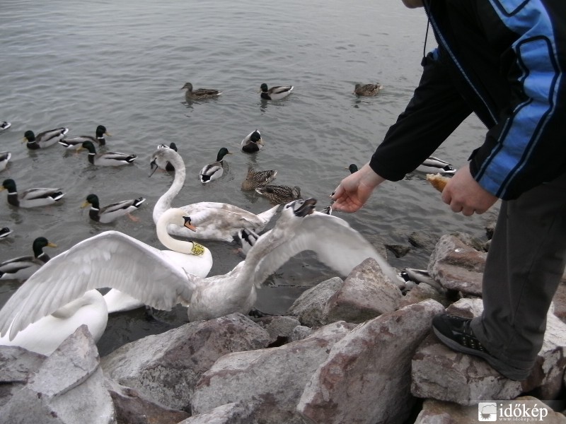
[[[482,310],[480,299],[461,299],[447,312],[471,318]],[[431,334],[412,360],[412,394],[461,405],[472,405],[477,399],[514,399],[535,390],[544,399],[554,399],[562,387],[566,365],[564,346],[566,325],[549,312],[536,366],[528,379],[516,382],[500,375],[482,358],[452,351]]]

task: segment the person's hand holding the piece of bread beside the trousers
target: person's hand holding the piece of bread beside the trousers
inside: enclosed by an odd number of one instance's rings
[[[497,201],[497,196],[485,191],[473,179],[470,167],[461,167],[454,177],[451,177],[442,191],[442,201],[449,205],[452,211],[461,212],[465,216],[474,213],[484,213]]]

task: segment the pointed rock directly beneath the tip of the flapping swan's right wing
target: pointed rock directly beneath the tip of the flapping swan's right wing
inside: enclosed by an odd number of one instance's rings
[[[403,298],[397,285],[383,274],[373,258],[365,259],[328,299],[323,322],[360,323],[397,309]]]

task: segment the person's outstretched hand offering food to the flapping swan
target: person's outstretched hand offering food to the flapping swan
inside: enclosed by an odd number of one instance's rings
[[[355,212],[359,210],[374,189],[383,181],[385,179],[377,175],[366,163],[338,184],[330,196],[335,201],[331,206],[333,211]]]

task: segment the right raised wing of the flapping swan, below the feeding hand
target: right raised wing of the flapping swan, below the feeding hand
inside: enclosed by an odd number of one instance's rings
[[[318,260],[342,276],[347,276],[355,266],[371,257],[377,261],[386,276],[397,281],[397,274],[391,265],[370,242],[342,218],[325,213],[311,213],[302,218],[301,224],[294,230],[274,228],[266,232],[255,242],[246,260],[251,252],[258,252],[258,249],[265,252],[265,255],[255,266],[253,278],[256,286],[261,285],[279,266],[304,250],[315,252]]]

